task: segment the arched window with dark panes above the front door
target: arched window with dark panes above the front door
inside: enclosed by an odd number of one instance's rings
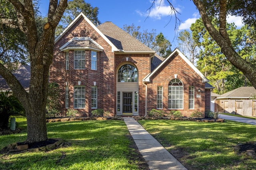
[[[118,82],[138,82],[137,68],[131,64],[124,64],[118,70]]]

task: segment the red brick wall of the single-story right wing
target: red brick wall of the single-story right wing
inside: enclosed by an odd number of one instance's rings
[[[174,74],[183,82],[183,109],[168,109],[168,84],[174,79]],[[157,86],[163,86],[163,111],[169,113],[171,110],[178,110],[183,116],[190,116],[193,111],[205,111],[205,89],[202,78],[179,56],[174,55],[151,77],[148,86],[147,110],[157,108]],[[194,86],[194,109],[188,109],[188,89]],[[198,89],[202,92],[198,92]],[[200,98],[196,97],[200,95]],[[210,98],[209,98],[210,100]]]

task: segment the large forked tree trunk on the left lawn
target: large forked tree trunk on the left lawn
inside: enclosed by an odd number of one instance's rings
[[[47,101],[49,68],[53,58],[54,33],[67,0],[50,0],[48,22],[44,25],[41,38],[38,37],[32,0],[9,0],[17,12],[18,27],[28,39],[30,53],[31,79],[27,93],[12,73],[0,64],[0,74],[4,77],[13,93],[26,111],[28,135],[27,142],[47,140],[45,107]],[[9,22],[10,25],[16,22]],[[8,23],[6,23],[8,25]],[[9,25],[9,26],[10,26]]]

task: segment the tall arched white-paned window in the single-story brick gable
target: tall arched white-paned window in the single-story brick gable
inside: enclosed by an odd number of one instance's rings
[[[168,109],[183,109],[183,83],[178,78],[168,85]]]

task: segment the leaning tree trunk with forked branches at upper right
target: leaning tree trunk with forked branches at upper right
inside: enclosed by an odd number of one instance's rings
[[[208,17],[206,12],[206,8],[202,2],[202,0],[193,0],[194,4],[198,8],[200,12],[200,16],[202,21],[204,22],[204,26],[206,27],[209,34],[216,41],[216,43],[220,46],[221,52],[227,57],[228,61],[232,63],[236,68],[244,73],[244,75],[250,80],[254,88],[256,88],[256,67],[249,63],[248,61],[242,59],[236,53],[234,48],[232,47],[231,41],[228,37],[228,33],[226,31],[226,0],[220,0],[220,29],[216,30]]]

